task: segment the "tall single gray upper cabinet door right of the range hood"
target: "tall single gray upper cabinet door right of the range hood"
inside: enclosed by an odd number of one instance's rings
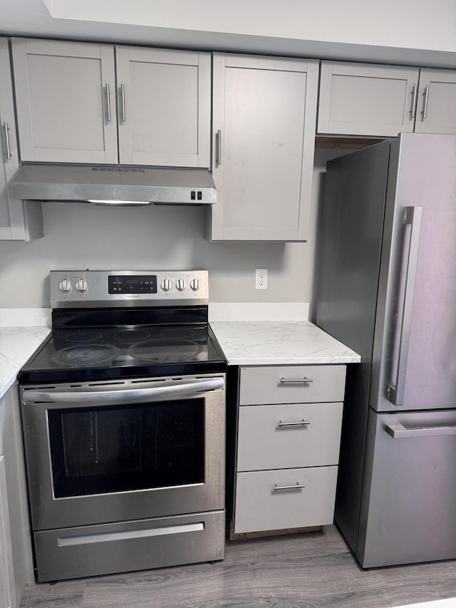
[[[213,56],[213,240],[306,240],[318,62]]]

